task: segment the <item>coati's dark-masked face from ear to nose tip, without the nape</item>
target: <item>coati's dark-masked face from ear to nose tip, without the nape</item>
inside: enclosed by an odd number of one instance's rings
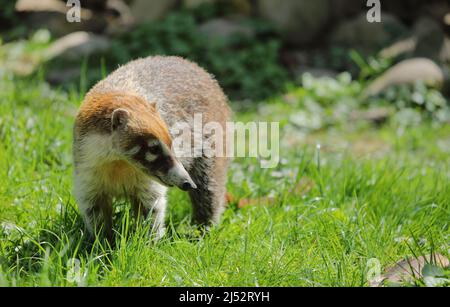
[[[146,125],[134,120],[129,110],[115,109],[111,129],[116,151],[130,164],[165,186],[176,186],[184,191],[196,189],[191,176],[170,149],[167,128],[160,122],[159,116],[154,115],[154,122]]]

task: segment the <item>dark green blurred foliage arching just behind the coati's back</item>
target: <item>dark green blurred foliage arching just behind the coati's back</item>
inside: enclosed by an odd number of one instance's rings
[[[197,62],[215,75],[233,99],[262,99],[284,89],[288,74],[279,63],[280,41],[271,28],[249,21],[255,35],[208,38],[196,17],[175,12],[164,20],[139,25],[113,42],[107,62],[126,63],[148,55],[178,55]]]

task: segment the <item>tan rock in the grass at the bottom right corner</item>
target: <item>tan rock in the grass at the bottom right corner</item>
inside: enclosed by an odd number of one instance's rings
[[[432,263],[442,268],[449,266],[448,258],[441,254],[420,256],[417,259],[409,258],[387,268],[383,275],[369,282],[369,285],[371,287],[382,287],[386,283],[397,286],[411,283],[414,279],[421,279],[423,277],[423,268],[427,263]]]

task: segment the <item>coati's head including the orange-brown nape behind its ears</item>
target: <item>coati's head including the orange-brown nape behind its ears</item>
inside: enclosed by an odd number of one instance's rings
[[[107,100],[103,103],[103,125],[111,134],[115,156],[163,185],[182,190],[196,188],[175,157],[167,125],[154,104],[138,96],[117,93],[102,100]]]

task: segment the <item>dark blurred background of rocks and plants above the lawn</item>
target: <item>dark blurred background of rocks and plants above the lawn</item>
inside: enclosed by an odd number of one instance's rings
[[[59,0],[1,0],[0,65],[17,75],[45,70],[52,85],[89,87],[127,61],[179,55],[214,74],[232,100],[252,102],[343,71],[364,84],[407,58],[370,94],[425,81],[446,93],[448,1],[383,1],[369,23],[360,0],[90,0],[81,22]],[[423,67],[430,75],[422,76]],[[80,69],[83,67],[83,69]],[[81,76],[84,73],[83,76]],[[415,76],[411,76],[415,75]],[[407,80],[405,80],[407,79]]]

